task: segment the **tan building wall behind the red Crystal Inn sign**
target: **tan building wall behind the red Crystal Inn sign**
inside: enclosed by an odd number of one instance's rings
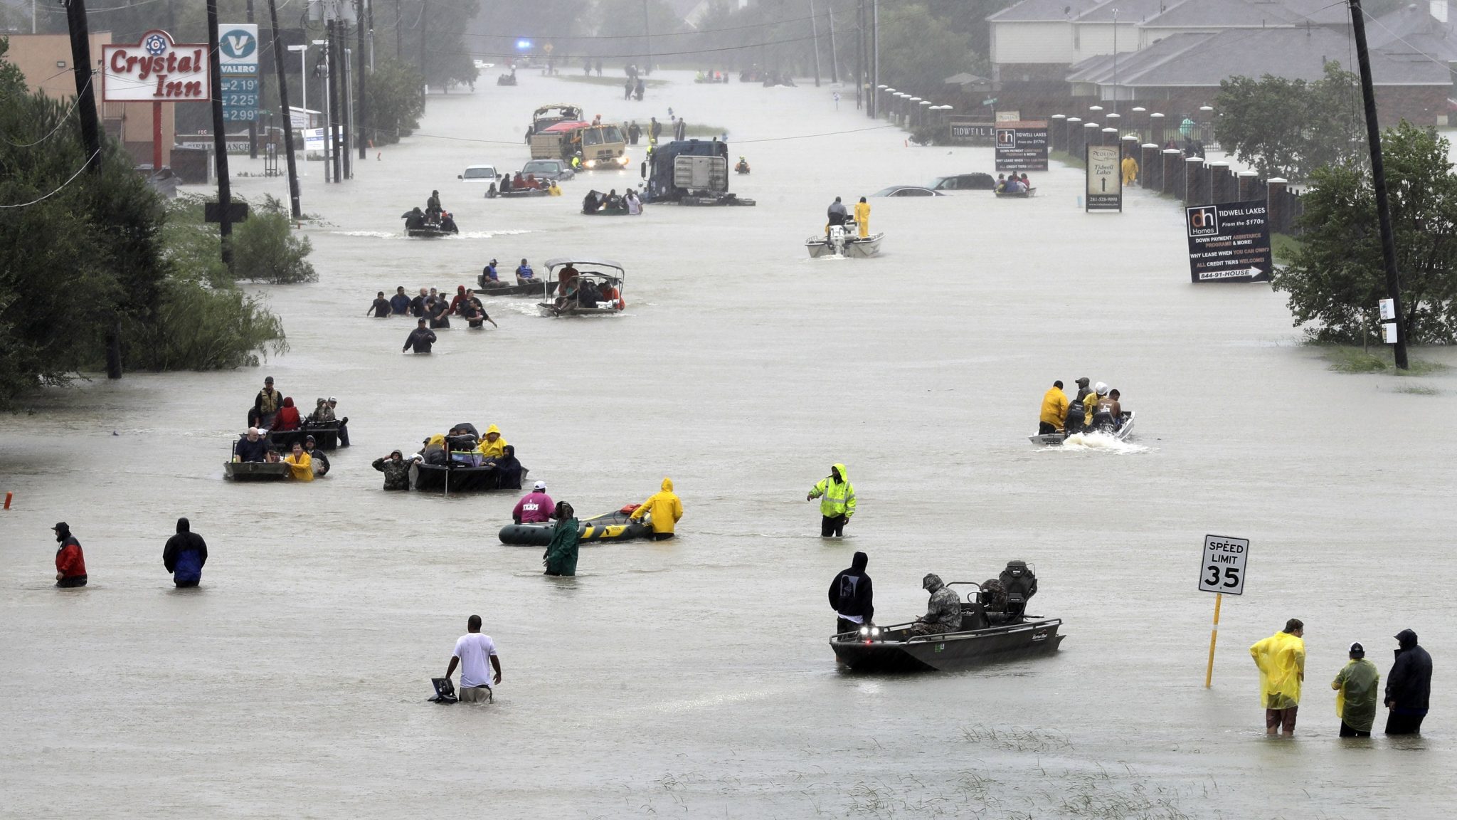
[[[150,102],[103,102],[101,79],[101,47],[111,44],[111,32],[92,32],[93,63],[92,90],[101,107],[102,128],[121,140],[127,153],[138,163],[152,162]],[[76,74],[71,70],[71,38],[64,34],[12,34],[7,58],[25,74],[31,90],[54,99],[76,96]],[[176,142],[176,104],[162,104],[162,165],[172,165],[172,143]]]

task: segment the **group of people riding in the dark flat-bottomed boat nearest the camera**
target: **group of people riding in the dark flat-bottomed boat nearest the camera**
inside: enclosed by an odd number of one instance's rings
[[[849,569],[841,570],[829,584],[829,606],[835,610],[835,635],[860,633],[874,624],[874,588],[865,568],[870,557],[855,553]],[[921,579],[921,588],[931,598],[925,614],[911,622],[911,635],[943,635],[962,632],[962,598],[949,588],[941,576],[928,572]],[[1037,576],[1021,560],[1007,562],[1001,575],[981,584],[978,601],[988,613],[998,617],[1021,619],[1027,601],[1037,592]]]

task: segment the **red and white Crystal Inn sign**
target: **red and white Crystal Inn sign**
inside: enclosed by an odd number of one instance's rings
[[[207,102],[211,76],[207,44],[173,42],[149,31],[136,45],[101,47],[102,99],[106,102]]]

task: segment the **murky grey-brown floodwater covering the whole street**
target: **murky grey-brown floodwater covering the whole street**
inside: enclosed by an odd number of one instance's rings
[[[863,130],[829,88],[667,76],[641,104],[532,73],[433,95],[423,133],[353,182],[307,163],[319,283],[262,289],[286,356],[47,391],[0,419],[0,492],[16,495],[0,514],[0,817],[1445,814],[1451,375],[1332,372],[1281,295],[1189,283],[1174,204],[1132,191],[1122,214],[1085,214],[1065,168],[1033,174],[1026,201],[874,200],[881,258],[812,261],[801,242],[833,196],[991,171],[991,150]],[[455,178],[519,165],[530,109],[554,101],[727,128],[758,207],[587,219],[589,187],[635,174],[525,201]],[[399,213],[431,188],[462,236],[404,239]],[[627,266],[624,315],[501,299],[500,330],[441,333],[431,357],[399,353],[405,320],[363,317],[376,290],[571,254]],[[339,397],[356,446],[326,480],[221,479],[265,374],[305,406]],[[1081,375],[1138,410],[1136,446],[1027,442],[1052,379]],[[680,537],[584,547],[577,578],[548,579],[538,550],[497,543],[511,493],[379,490],[369,461],[462,420],[500,425],[584,515],[672,476]],[[822,541],[804,493],[835,461],[860,512]],[[211,549],[197,591],[160,563],[179,515]],[[86,547],[86,589],[51,588],[58,519]],[[1206,533],[1253,541],[1211,690]],[[844,673],[825,589],[854,550],[883,623],[924,611],[925,572],[1029,560],[1062,651]],[[497,702],[425,703],[472,613],[500,646]],[[1268,740],[1246,648],[1287,617],[1307,624],[1307,690],[1298,735]],[[1339,740],[1346,645],[1384,674],[1403,627],[1437,661],[1426,735]]]

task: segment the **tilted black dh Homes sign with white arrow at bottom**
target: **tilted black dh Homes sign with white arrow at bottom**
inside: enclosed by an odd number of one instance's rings
[[[1271,225],[1265,200],[1185,209],[1193,282],[1269,282]]]

